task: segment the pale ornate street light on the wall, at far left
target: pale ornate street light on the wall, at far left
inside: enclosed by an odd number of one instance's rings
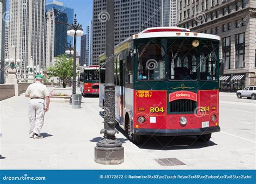
[[[8,69],[8,76],[6,79],[6,83],[13,84],[18,83],[18,70],[21,64],[21,60],[16,58],[16,47],[14,45],[10,48],[11,58],[6,58],[5,67]]]

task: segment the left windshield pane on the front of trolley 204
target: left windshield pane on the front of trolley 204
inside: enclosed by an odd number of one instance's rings
[[[165,79],[165,51],[160,44],[144,44],[138,55],[138,80]]]

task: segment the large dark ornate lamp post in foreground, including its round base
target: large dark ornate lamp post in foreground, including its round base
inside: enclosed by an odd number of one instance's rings
[[[124,147],[122,142],[115,137],[118,131],[115,129],[114,112],[114,1],[107,1],[106,11],[110,15],[106,22],[106,84],[105,84],[105,118],[104,138],[99,140],[95,147],[95,161],[98,164],[116,165],[124,162]]]

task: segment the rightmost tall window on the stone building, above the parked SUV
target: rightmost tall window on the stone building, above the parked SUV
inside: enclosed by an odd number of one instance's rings
[[[235,68],[244,68],[245,33],[235,35]]]

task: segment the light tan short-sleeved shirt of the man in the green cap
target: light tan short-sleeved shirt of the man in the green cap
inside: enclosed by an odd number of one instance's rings
[[[50,96],[50,93],[44,84],[35,82],[29,85],[25,95],[29,95],[30,98],[45,98]]]

